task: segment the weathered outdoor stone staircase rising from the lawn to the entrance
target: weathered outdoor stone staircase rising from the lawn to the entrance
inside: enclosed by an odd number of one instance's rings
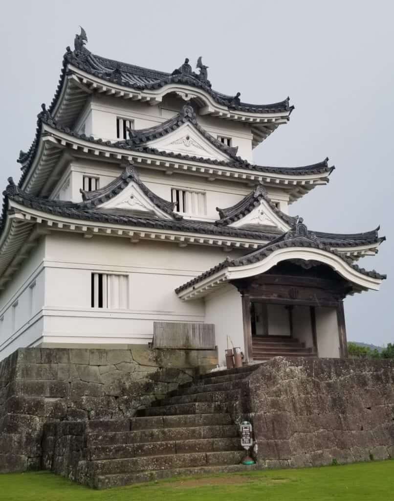
[[[86,421],[83,457],[74,474],[67,473],[64,463],[63,471],[81,483],[107,488],[176,475],[253,469],[240,464],[245,451],[237,423],[247,417],[241,416],[240,404],[247,397],[245,379],[256,368],[201,376],[130,419]],[[59,467],[54,469],[60,472]]]

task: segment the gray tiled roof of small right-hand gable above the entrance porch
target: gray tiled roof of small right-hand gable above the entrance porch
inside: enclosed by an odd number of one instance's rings
[[[272,203],[271,199],[268,197],[267,191],[262,184],[256,186],[253,191],[251,191],[235,205],[232,205],[231,207],[227,207],[225,209],[216,207],[216,210],[220,215],[220,219],[216,221],[216,224],[226,225],[242,219],[246,214],[249,214],[249,212],[251,212],[256,206],[258,206],[261,200],[265,200],[270,205],[275,214],[287,224],[295,224],[297,217],[289,216],[281,210],[277,209],[275,204]]]

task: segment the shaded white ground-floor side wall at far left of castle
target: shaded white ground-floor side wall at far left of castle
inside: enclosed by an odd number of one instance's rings
[[[44,256],[42,238],[0,295],[0,360],[42,335]]]

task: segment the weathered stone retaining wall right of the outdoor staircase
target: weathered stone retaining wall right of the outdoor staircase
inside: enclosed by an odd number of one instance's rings
[[[249,391],[262,466],[394,457],[394,360],[278,357],[252,373]]]

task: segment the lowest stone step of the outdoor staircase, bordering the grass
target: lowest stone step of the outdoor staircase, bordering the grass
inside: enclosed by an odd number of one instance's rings
[[[260,469],[257,464],[227,464],[220,466],[198,466],[194,468],[174,468],[168,470],[152,470],[141,473],[115,473],[110,475],[97,475],[94,477],[92,487],[106,489],[110,487],[120,487],[133,483],[150,482],[170,477],[183,477],[195,475],[209,475],[216,473],[234,473],[242,471],[253,471]]]

